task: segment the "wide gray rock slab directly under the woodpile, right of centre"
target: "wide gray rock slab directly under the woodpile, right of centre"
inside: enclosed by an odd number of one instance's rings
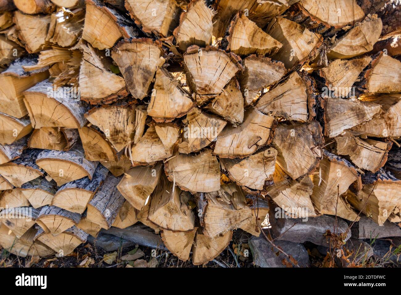
[[[286,216],[288,217],[288,216]],[[270,232],[277,240],[303,243],[306,241],[316,245],[330,246],[330,240],[326,240],[326,230],[333,232],[336,218],[334,216],[310,217],[307,220],[302,218],[286,218],[281,213],[281,208],[269,212]],[[295,224],[295,225],[294,225]],[[337,218],[337,234],[346,232],[348,224],[341,218]],[[344,242],[351,236],[348,231]]]

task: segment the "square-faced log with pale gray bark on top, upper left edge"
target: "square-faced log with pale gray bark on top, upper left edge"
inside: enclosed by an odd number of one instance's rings
[[[28,114],[23,92],[49,77],[49,71],[46,68],[24,71],[24,66],[35,63],[35,57],[22,57],[12,62],[10,67],[0,74],[0,83],[7,85],[0,94],[0,108],[4,110],[4,113],[16,118]]]

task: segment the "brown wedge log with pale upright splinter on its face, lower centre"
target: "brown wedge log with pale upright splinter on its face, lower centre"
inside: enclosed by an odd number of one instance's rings
[[[192,231],[195,215],[186,202],[186,194],[162,175],[150,199],[148,220],[163,230]]]

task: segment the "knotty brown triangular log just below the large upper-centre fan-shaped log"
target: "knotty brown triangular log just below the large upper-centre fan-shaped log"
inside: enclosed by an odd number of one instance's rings
[[[233,78],[223,88],[223,92],[205,106],[205,109],[233,124],[242,123],[244,120],[244,98],[237,79]]]

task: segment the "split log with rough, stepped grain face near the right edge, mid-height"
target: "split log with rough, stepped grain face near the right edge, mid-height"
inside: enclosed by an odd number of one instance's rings
[[[352,163],[359,168],[373,173],[383,167],[387,161],[389,150],[393,143],[353,136],[349,132],[335,138],[338,155],[349,156]]]

